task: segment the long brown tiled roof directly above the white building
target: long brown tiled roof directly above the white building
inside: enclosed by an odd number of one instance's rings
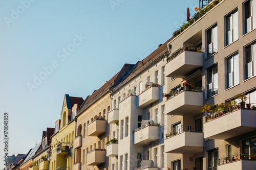
[[[173,40],[173,37],[168,39],[166,42],[164,42],[162,45],[159,45],[159,47],[150,55],[148,55],[146,58],[144,58],[142,61],[137,62],[136,68],[131,72],[131,74],[126,78],[125,81],[120,83],[116,88],[114,88],[114,91],[119,89],[122,85],[126,84],[127,82],[131,81],[134,77],[136,77],[140,71],[146,69],[148,66],[150,66],[154,61],[159,59],[160,56],[165,54],[168,51],[167,44]]]

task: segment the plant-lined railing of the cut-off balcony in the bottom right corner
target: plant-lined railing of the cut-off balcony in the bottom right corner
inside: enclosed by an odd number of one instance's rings
[[[219,159],[219,165],[237,161],[237,160],[254,160],[256,161],[256,153],[255,154],[236,154],[229,157]]]

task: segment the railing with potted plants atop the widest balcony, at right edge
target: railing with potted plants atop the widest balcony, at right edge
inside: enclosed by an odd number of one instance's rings
[[[245,108],[241,108],[240,104],[235,104],[233,106],[230,106],[230,107],[227,107],[225,109],[219,109],[218,111],[215,111],[214,113],[208,113],[209,115],[208,116],[205,116],[205,122],[208,122],[210,120],[213,120],[215,118],[218,118],[218,117],[221,117],[221,116],[224,116],[224,115],[227,115],[229,113],[232,113],[236,110],[239,110],[239,109],[251,109],[253,108],[256,109],[256,104],[252,104],[252,103],[246,103],[245,105]]]

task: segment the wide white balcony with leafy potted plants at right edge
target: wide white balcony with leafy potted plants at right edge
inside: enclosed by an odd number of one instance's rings
[[[204,138],[228,139],[256,130],[256,110],[225,109],[206,116],[204,123]]]

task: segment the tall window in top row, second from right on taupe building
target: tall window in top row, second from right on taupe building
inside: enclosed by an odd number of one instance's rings
[[[238,40],[238,10],[226,16],[226,45]]]

